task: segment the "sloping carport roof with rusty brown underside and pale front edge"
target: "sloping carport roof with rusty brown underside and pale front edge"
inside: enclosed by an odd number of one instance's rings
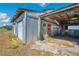
[[[79,10],[75,10],[76,7],[79,7],[79,4],[72,4],[66,8],[62,8],[56,11],[52,11],[49,13],[43,13],[40,15],[40,18],[42,20],[46,20],[49,22],[53,22],[54,20],[57,20],[61,24],[68,23],[70,21],[70,18],[79,18]],[[49,19],[47,19],[49,18]],[[78,21],[78,20],[77,20]],[[75,21],[74,21],[75,22]]]

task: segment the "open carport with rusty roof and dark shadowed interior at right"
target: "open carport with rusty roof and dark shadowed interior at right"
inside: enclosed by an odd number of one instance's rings
[[[43,13],[40,15],[40,19],[59,26],[61,36],[79,37],[79,4]],[[43,32],[41,33],[43,35]]]

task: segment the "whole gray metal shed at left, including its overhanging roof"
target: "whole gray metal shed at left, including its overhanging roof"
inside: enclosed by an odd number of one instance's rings
[[[19,8],[12,18],[13,33],[23,42],[40,38],[40,12]]]

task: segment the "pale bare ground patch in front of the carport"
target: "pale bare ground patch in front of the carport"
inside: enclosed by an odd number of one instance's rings
[[[35,44],[32,45],[32,49],[47,51],[53,53],[53,55],[79,55],[79,46],[66,40],[36,41]]]

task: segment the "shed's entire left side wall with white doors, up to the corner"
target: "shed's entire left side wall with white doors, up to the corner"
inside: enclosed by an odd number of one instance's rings
[[[23,13],[19,18],[17,18],[15,24],[13,25],[13,33],[16,35],[23,43],[25,43],[24,39],[24,19],[25,13]]]

